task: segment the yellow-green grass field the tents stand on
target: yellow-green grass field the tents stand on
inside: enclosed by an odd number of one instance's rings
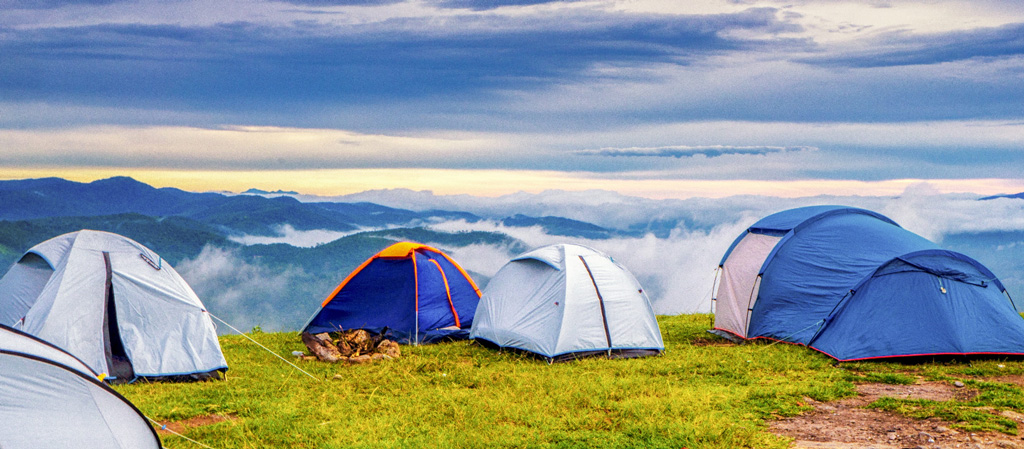
[[[768,433],[765,422],[810,410],[805,397],[836,400],[853,395],[856,381],[905,383],[918,376],[964,378],[979,389],[973,402],[953,405],[964,413],[933,414],[978,428],[1009,432],[989,410],[1024,406],[1016,386],[968,378],[1024,372],[1017,362],[999,362],[1005,368],[995,362],[837,367],[790,344],[706,344],[720,341],[705,332],[710,321],[707,315],[658,317],[666,353],[643,359],[548,365],[461,341],[402,346],[400,359],[376,364],[298,363],[323,381],[242,336],[224,336],[231,367],[224,381],[117,389],[161,422],[231,416],[185,432],[218,449],[784,448],[788,441]],[[305,350],[295,333],[250,336],[282,355]],[[922,416],[930,410],[872,406]],[[199,447],[162,438],[170,448]]]

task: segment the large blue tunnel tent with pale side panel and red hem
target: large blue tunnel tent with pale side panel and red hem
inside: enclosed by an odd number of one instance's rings
[[[1024,354],[1024,320],[991,272],[869,210],[769,215],[720,268],[722,336],[806,344],[838,360]],[[986,342],[978,326],[998,329],[1001,342]]]

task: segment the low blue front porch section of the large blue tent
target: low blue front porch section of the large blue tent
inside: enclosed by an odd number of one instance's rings
[[[894,258],[836,308],[809,344],[842,361],[1024,353],[1024,320],[992,274],[951,251]]]

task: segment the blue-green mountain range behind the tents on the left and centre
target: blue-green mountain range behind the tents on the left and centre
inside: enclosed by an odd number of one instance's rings
[[[498,232],[439,232],[426,224],[480,221],[468,212],[414,211],[374,203],[303,203],[282,193],[234,195],[157,189],[130,177],[93,182],[60,178],[0,181],[0,266],[9,267],[32,246],[82,229],[108,231],[135,240],[177,266],[211,310],[241,326],[295,329],[311,313],[309,304],[344,279],[362,260],[400,240],[439,246],[504,248],[511,256],[528,246]],[[264,196],[267,195],[267,196]],[[540,227],[550,235],[608,238],[617,231],[562,217],[515,214],[495,219],[506,227]],[[288,244],[244,245],[241,236],[280,236],[294,231],[333,231],[342,237],[313,247]],[[208,252],[204,252],[208,251]],[[229,257],[230,273],[210,278],[203,254]],[[189,272],[193,268],[195,273]],[[222,269],[221,269],[222,270]],[[478,284],[487,277],[473,273]],[[243,272],[258,272],[287,283],[275,292],[252,285]],[[189,279],[189,276],[194,279]],[[245,291],[244,298],[236,298]],[[299,304],[306,304],[301,307]],[[214,308],[217,305],[217,308]]]

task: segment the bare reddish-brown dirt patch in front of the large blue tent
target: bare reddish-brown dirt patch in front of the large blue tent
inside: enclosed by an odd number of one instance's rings
[[[968,433],[950,427],[938,418],[912,419],[895,413],[863,408],[883,397],[968,400],[977,392],[946,382],[919,382],[912,385],[862,383],[858,396],[834,402],[804,398],[814,410],[770,423],[775,435],[794,438],[795,448],[814,449],[904,449],[904,448],[1024,448],[1024,439],[1000,433]],[[1007,415],[1006,413],[1002,413]],[[1024,415],[1008,417],[1024,422]],[[1018,424],[1020,427],[1020,424]]]

